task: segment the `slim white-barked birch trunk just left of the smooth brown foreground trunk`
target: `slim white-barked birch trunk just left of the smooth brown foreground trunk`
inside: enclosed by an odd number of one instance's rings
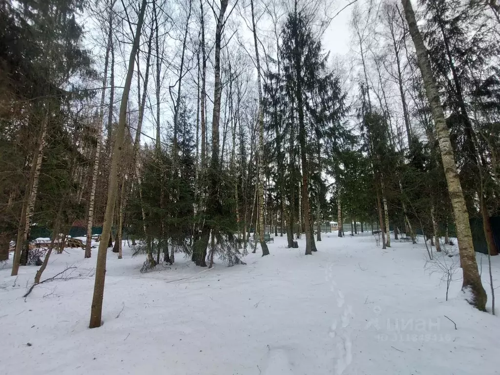
[[[102,92],[100,96],[100,111],[99,118],[97,120],[97,144],[95,146],[95,159],[92,170],[92,183],[90,186],[90,197],[88,200],[88,214],[87,214],[87,239],[85,242],[85,258],[89,258],[92,254],[92,224],[93,224],[93,210],[95,202],[95,187],[97,185],[97,174],[99,172],[99,160],[100,160],[100,147],[102,144],[102,121],[104,120],[104,99],[106,96],[106,83],[107,83],[107,68],[109,64],[109,53],[112,47],[112,22],[113,22],[113,5],[114,1],[111,1],[110,8],[108,9],[108,30],[107,30],[107,45],[106,45],[106,56],[104,58],[104,74],[102,77]]]

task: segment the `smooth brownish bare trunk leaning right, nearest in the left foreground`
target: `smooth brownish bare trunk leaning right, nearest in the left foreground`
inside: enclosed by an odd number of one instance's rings
[[[142,0],[139,15],[137,19],[137,28],[130,51],[130,58],[128,61],[128,70],[123,87],[123,94],[121,96],[120,115],[118,126],[116,130],[116,139],[114,141],[113,152],[111,155],[111,168],[109,172],[109,182],[107,190],[106,210],[104,214],[104,223],[102,225],[102,236],[108,238],[111,234],[111,225],[113,222],[114,203],[116,201],[116,190],[118,187],[119,169],[118,163],[121,159],[121,147],[125,133],[125,119],[126,108],[128,103],[128,94],[130,92],[130,84],[132,82],[134,58],[137,53],[140,40],[140,31],[142,28],[142,21],[144,19],[144,11],[146,8],[147,0]],[[97,263],[95,267],[95,282],[94,291],[92,296],[92,305],[90,308],[90,328],[99,327],[101,325],[102,315],[102,298],[104,296],[104,277],[106,272],[106,250],[107,246],[104,241],[100,241],[99,250],[97,252]]]

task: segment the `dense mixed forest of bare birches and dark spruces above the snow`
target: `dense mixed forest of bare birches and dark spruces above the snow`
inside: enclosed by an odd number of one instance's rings
[[[346,12],[350,35],[329,35]],[[390,230],[436,251],[456,236],[484,309],[471,233],[498,254],[496,1],[1,0],[0,28],[12,274],[43,271],[74,226],[85,257],[102,227],[95,300],[125,237],[146,271],[266,255],[266,231],[312,254],[321,223],[377,223],[383,247]],[[325,50],[332,37],[351,52]],[[53,233],[45,259],[34,227]]]

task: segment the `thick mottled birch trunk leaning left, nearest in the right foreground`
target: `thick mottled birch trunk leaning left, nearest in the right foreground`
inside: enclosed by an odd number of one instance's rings
[[[425,92],[432,110],[432,117],[434,119],[437,139],[439,141],[444,174],[448,184],[448,192],[456,224],[460,263],[463,272],[462,290],[470,290],[471,296],[468,297],[469,303],[473,304],[479,310],[485,311],[487,295],[482,287],[481,278],[477,269],[467,207],[465,205],[465,198],[463,196],[460,179],[456,170],[453,148],[451,147],[448,128],[446,127],[444,112],[439,99],[439,92],[430,67],[427,50],[423,44],[422,36],[416,24],[415,14],[413,12],[411,2],[410,0],[401,0],[401,3],[404,8],[406,21],[408,23],[409,33],[415,45],[418,66],[422,73]]]

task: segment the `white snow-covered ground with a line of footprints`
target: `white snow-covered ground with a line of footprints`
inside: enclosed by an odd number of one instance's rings
[[[123,259],[108,252],[104,324],[95,329],[88,320],[97,249],[90,259],[82,249],[52,254],[42,280],[76,268],[25,300],[38,267],[11,277],[7,262],[0,374],[500,373],[500,320],[463,300],[460,268],[446,301],[443,272],[426,264],[421,240],[392,239],[382,250],[364,234],[323,233],[309,256],[303,239],[287,249],[276,237],[269,256],[257,249],[233,267],[199,268],[177,254],[171,268],[145,274],[144,256],[131,257],[125,242]],[[490,309],[487,257],[477,258]],[[492,263],[500,285],[500,258]]]

